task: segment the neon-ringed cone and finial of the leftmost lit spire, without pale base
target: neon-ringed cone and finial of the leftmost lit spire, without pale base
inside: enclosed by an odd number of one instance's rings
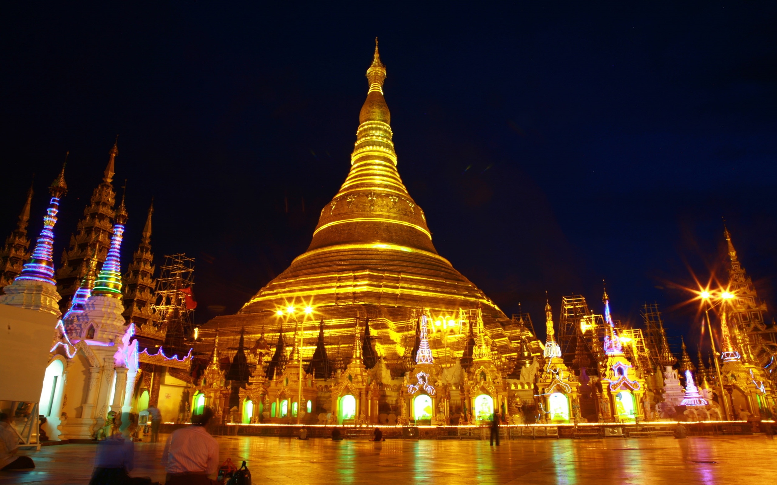
[[[16,276],[16,280],[32,280],[57,285],[57,282],[54,281],[54,224],[57,223],[59,199],[68,192],[68,185],[64,182],[65,165],[67,165],[67,161],[62,164],[62,170],[49,187],[51,201],[44,216],[44,228],[40,230],[40,236],[38,236],[30,260],[25,263],[22,273]]]

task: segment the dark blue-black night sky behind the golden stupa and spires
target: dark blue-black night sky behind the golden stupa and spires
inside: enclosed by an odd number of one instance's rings
[[[125,268],[154,196],[156,261],[197,258],[197,321],[234,313],[347,175],[378,36],[399,173],[508,316],[542,323],[545,291],[556,318],[571,293],[601,311],[604,279],[615,318],[655,300],[695,348],[676,286],[725,281],[721,217],[777,303],[775,2],[223,3],[6,7],[0,237],[33,172],[37,234],[69,150],[58,266],[118,133]]]

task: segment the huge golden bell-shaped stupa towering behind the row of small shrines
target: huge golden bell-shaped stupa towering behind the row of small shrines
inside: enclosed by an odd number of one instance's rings
[[[507,318],[434,249],[423,210],[397,171],[377,40],[367,78],[350,172],[321,210],[308,250],[237,314],[204,325],[197,351],[210,352],[217,325],[221,336],[245,328],[249,347],[263,334],[274,342],[281,329],[291,347],[292,333],[304,328],[302,358],[310,359],[323,320],[329,359],[347,362],[354,331],[363,332],[368,318],[375,351],[394,373],[408,363],[421,314],[433,322],[430,345],[441,363],[466,352],[470,324],[480,314],[493,350],[503,357],[516,355],[521,337],[532,341],[533,353],[540,352],[526,330],[530,324]]]

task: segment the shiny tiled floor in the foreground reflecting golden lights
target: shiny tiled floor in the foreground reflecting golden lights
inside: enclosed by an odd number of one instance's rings
[[[221,459],[246,459],[253,483],[775,483],[777,440],[742,437],[503,441],[333,442],[221,437]],[[0,472],[0,485],[88,483],[95,445],[47,446],[30,472]],[[160,482],[162,443],[137,443],[134,476]]]

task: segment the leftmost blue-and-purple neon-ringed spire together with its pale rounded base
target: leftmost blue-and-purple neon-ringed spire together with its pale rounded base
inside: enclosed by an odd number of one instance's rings
[[[64,182],[64,167],[57,178],[51,183],[49,201],[44,227],[40,230],[33,254],[23,265],[22,272],[16,279],[5,286],[5,295],[0,297],[0,303],[13,307],[23,307],[31,310],[40,310],[47,313],[61,315],[57,308],[60,295],[57,293],[54,281],[54,224],[57,223],[59,201],[68,192],[68,185]]]

